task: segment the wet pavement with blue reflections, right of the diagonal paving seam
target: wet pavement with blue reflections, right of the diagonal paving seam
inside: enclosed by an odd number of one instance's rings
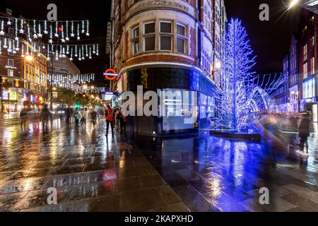
[[[312,135],[307,159],[206,133],[134,139],[192,211],[318,211],[318,137]],[[269,205],[259,203],[262,187]]]

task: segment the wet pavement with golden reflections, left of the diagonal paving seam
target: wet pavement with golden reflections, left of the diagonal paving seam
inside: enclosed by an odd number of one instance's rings
[[[105,121],[0,124],[0,136],[0,211],[189,211],[138,149],[105,136]]]

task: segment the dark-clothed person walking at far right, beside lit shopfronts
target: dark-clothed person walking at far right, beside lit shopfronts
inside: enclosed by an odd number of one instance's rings
[[[300,138],[300,149],[302,151],[301,155],[308,156],[308,137],[310,136],[310,114],[307,113],[302,116],[302,121],[300,121],[300,126],[298,130]]]

